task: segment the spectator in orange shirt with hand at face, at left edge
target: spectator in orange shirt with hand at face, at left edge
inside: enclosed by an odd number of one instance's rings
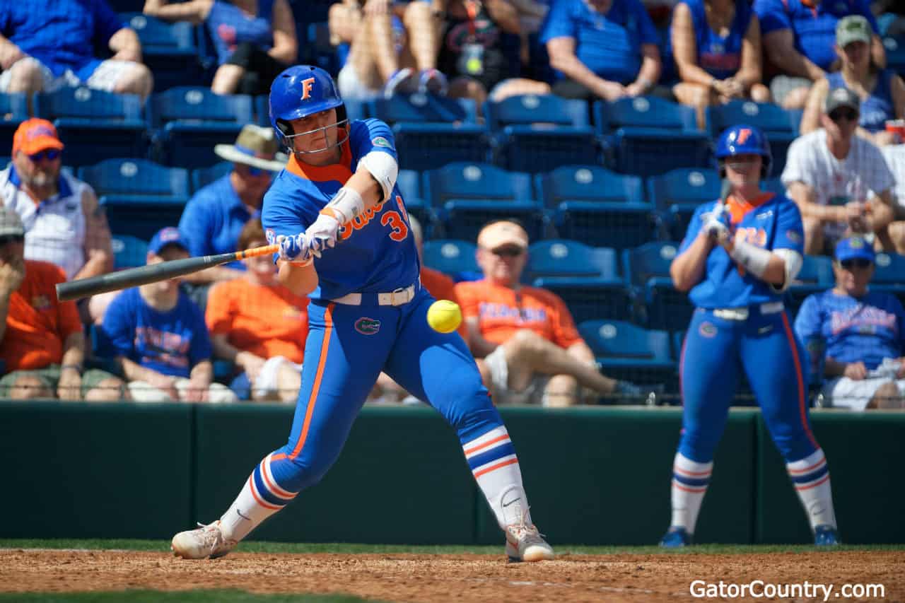
[[[128,398],[124,384],[102,370],[85,370],[85,334],[74,302],[59,302],[62,270],[24,259],[25,229],[0,207],[0,397]]]

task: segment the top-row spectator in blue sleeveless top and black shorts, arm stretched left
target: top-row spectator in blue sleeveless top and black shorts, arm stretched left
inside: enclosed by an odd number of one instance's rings
[[[266,94],[296,61],[299,43],[287,0],[146,0],[145,14],[205,24],[217,53],[214,94]]]

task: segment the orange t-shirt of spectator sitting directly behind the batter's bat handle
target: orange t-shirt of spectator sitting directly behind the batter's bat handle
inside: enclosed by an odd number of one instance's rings
[[[243,278],[218,282],[207,295],[205,321],[211,335],[263,359],[301,362],[308,337],[308,298],[282,285],[266,287]]]

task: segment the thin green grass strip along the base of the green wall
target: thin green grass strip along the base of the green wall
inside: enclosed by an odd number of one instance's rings
[[[743,553],[779,553],[779,552],[811,552],[816,550],[807,544],[696,544],[685,550],[664,550],[657,546],[581,546],[559,545],[554,547],[557,553],[573,555],[650,555],[650,554],[743,554]],[[151,550],[169,552],[169,541],[137,541],[137,540],[10,540],[0,539],[0,549],[88,549],[88,550]],[[905,544],[861,544],[843,545],[832,550],[905,550]],[[262,553],[337,553],[351,555],[358,553],[408,553],[415,555],[455,555],[474,553],[479,555],[503,555],[503,546],[472,546],[464,544],[451,545],[406,545],[406,544],[354,544],[344,542],[331,543],[298,543],[298,542],[243,542],[238,552]]]

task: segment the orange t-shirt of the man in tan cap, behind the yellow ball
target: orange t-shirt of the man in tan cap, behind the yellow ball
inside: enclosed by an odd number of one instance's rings
[[[566,302],[556,293],[536,287],[515,291],[487,280],[458,282],[455,292],[462,316],[478,319],[485,340],[505,343],[522,329],[533,330],[564,349],[582,340]]]

